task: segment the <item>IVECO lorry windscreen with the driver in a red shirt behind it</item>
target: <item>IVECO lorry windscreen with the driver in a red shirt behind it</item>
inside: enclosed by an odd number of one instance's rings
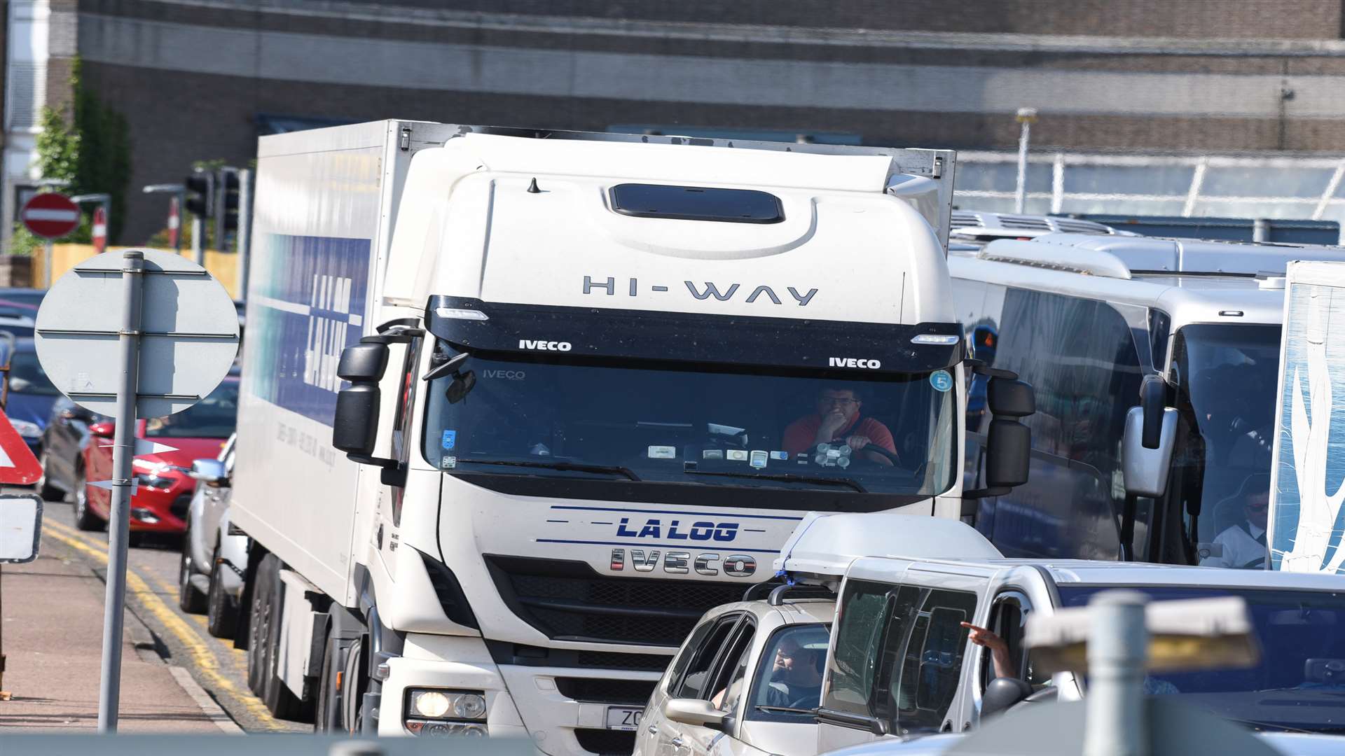
[[[954,483],[954,383],[471,356],[430,382],[424,453],[456,472],[932,496]]]

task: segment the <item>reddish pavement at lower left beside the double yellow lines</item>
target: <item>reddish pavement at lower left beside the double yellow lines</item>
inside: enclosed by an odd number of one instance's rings
[[[100,560],[63,535],[59,523],[44,523],[43,530],[36,561],[3,565],[0,572],[3,689],[11,694],[0,701],[0,732],[93,732],[105,592]],[[145,581],[129,576],[128,607],[144,605],[145,592],[152,592]],[[118,732],[242,732],[187,669],[169,663],[165,648],[134,612],[126,612]]]

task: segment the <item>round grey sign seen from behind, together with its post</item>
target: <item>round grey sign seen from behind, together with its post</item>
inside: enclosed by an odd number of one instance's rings
[[[116,421],[112,480],[91,483],[112,490],[98,729],[116,732],[136,420],[182,412],[219,385],[238,352],[238,316],[225,288],[180,256],[108,252],[51,288],[35,344],[56,389]]]

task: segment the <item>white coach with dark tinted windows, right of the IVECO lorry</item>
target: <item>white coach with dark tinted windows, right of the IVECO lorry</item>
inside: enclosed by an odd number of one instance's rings
[[[1342,256],[1075,233],[954,250],[971,356],[1015,371],[1038,401],[1024,420],[1028,484],[967,521],[1010,557],[1259,566],[1264,547],[1224,549],[1220,535],[1268,490],[1284,266]],[[979,381],[968,464],[989,420]],[[1264,522],[1247,527],[1254,542]]]

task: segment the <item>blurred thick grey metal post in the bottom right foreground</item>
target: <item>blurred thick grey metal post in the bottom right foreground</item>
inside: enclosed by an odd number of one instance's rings
[[[1088,603],[1088,695],[1084,756],[1147,756],[1145,659],[1149,630],[1138,591],[1103,591]]]

